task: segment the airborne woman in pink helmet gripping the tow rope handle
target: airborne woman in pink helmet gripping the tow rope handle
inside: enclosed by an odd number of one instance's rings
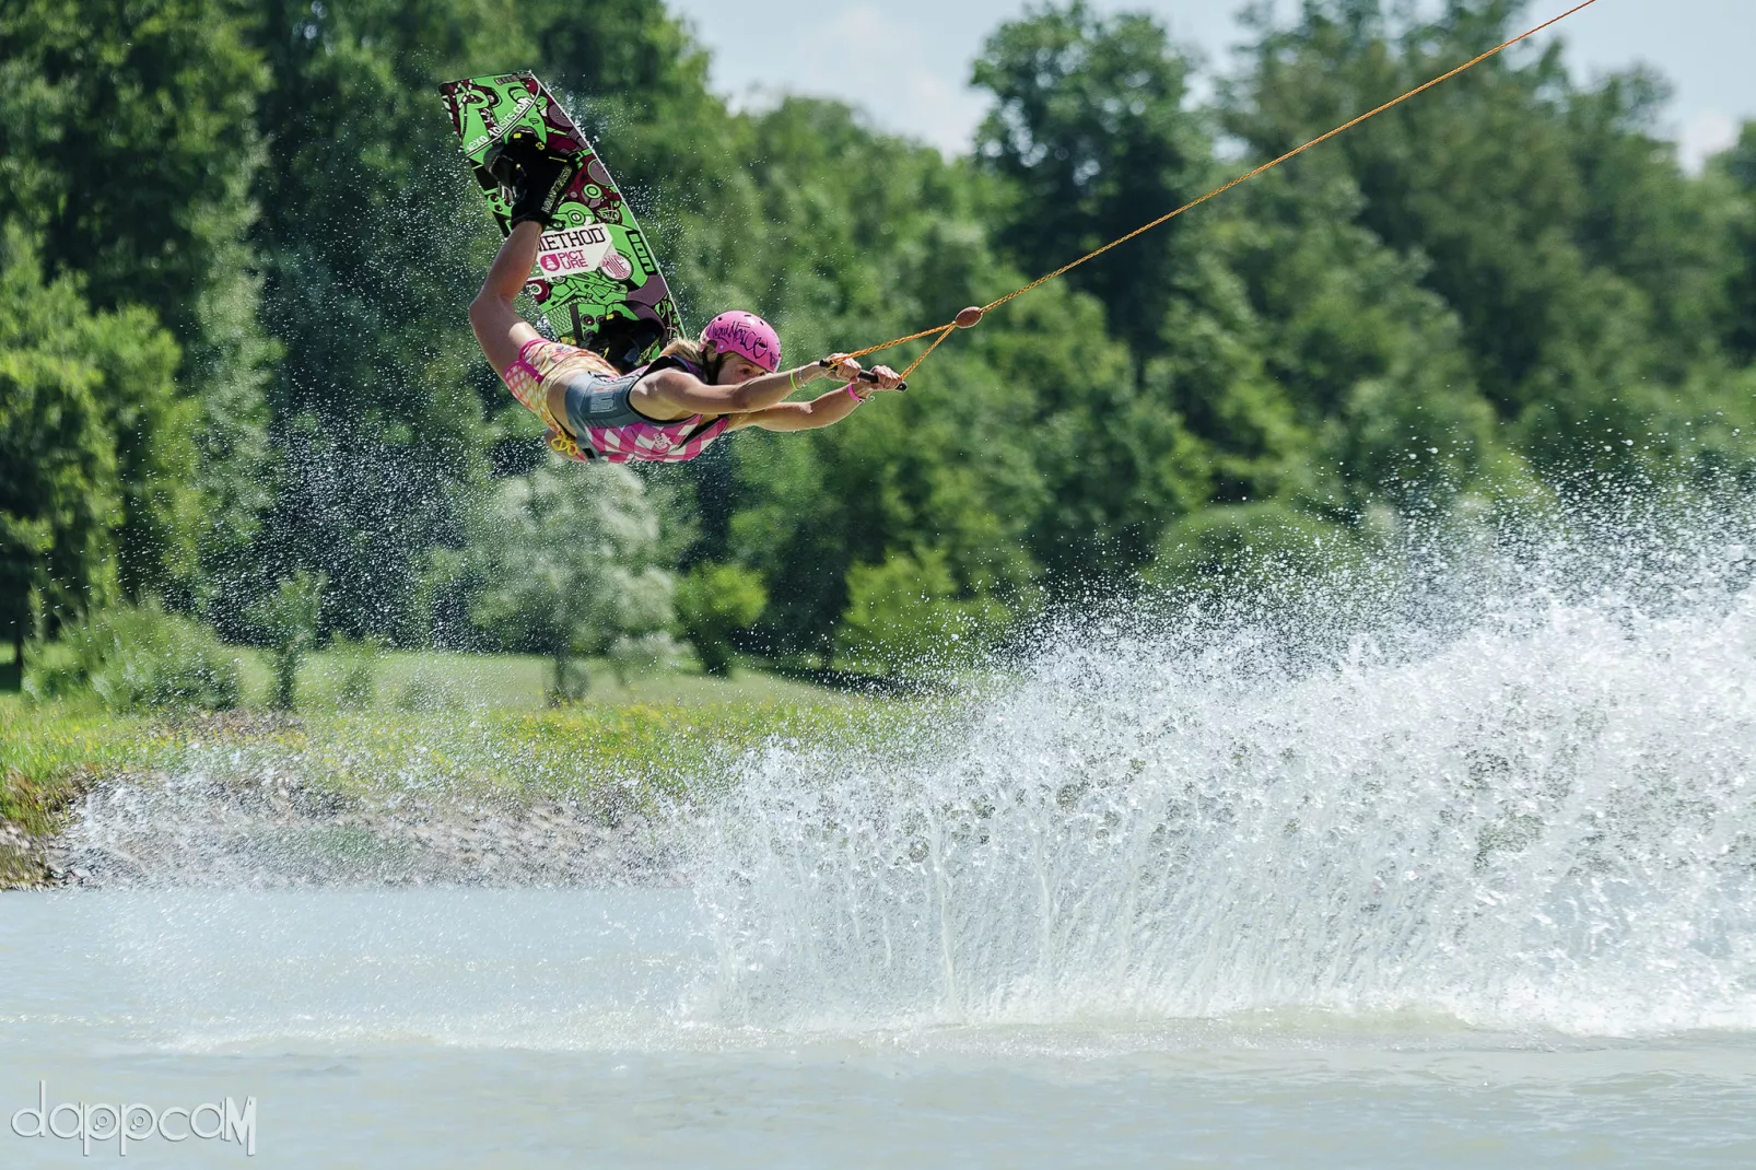
[[[862,381],[860,364],[839,353],[824,364],[780,369],[780,337],[753,313],[722,313],[699,341],[673,341],[657,362],[629,374],[592,350],[546,341],[518,316],[513,297],[530,276],[571,169],[539,151],[509,162],[513,232],[469,306],[469,323],[506,388],[548,425],[551,450],[579,460],[678,462],[701,455],[729,430],[827,427],[873,390],[901,388],[890,367],[880,365]],[[783,401],[829,376],[846,385],[810,402]]]

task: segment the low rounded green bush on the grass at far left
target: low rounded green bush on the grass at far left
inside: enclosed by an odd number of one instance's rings
[[[209,627],[151,603],[68,625],[61,645],[68,657],[25,675],[25,692],[39,701],[90,690],[116,711],[223,711],[239,703],[237,655]]]

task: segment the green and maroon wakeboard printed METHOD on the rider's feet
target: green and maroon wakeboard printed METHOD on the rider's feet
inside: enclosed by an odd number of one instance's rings
[[[511,191],[488,174],[488,151],[509,135],[532,134],[550,153],[579,163],[525,285],[555,337],[595,350],[620,369],[658,357],[683,332],[671,286],[627,199],[560,102],[529,72],[448,81],[439,93],[502,234],[513,230]]]

